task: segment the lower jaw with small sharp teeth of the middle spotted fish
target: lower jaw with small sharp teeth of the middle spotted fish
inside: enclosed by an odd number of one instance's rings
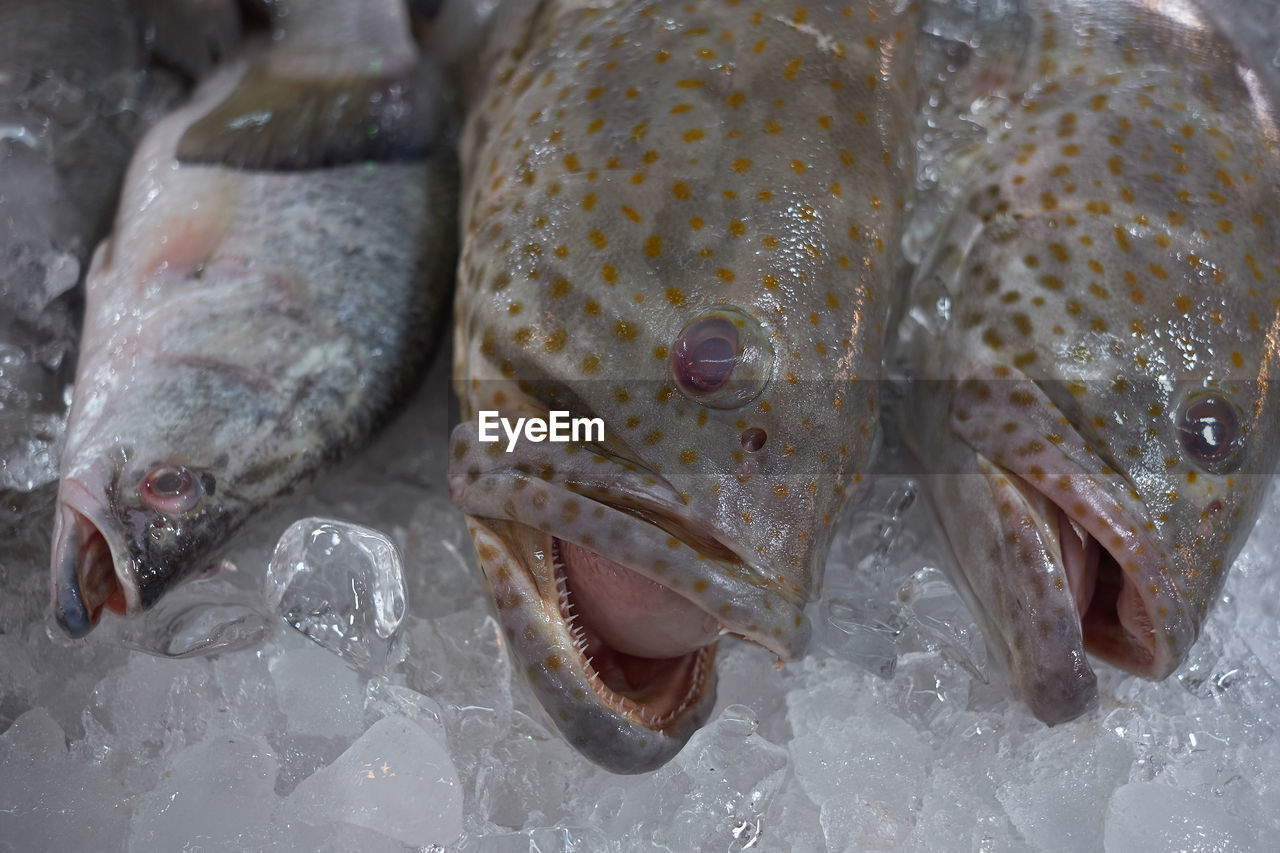
[[[570,744],[618,774],[671,760],[710,715],[716,646],[669,660],[614,652],[575,619],[556,537],[475,516],[467,529],[512,654]]]

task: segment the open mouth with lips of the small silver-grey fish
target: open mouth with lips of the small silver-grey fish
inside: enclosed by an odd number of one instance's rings
[[[76,638],[88,634],[104,611],[124,616],[140,610],[137,584],[122,575],[115,558],[125,546],[115,540],[111,524],[95,521],[87,494],[78,480],[65,478],[54,520],[54,617]]]

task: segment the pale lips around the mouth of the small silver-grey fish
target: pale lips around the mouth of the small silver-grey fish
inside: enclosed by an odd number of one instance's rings
[[[86,546],[92,537],[99,535],[106,544],[111,560],[113,578],[97,578],[97,584],[114,583],[115,590],[123,598],[123,607],[110,598],[96,601],[95,596],[86,598],[86,574],[95,571],[84,565]],[[118,535],[115,525],[108,523],[101,505],[95,501],[92,489],[81,479],[64,476],[58,489],[58,510],[54,517],[54,546],[50,565],[52,579],[52,608],[58,625],[72,638],[88,634],[104,607],[123,610],[122,615],[132,615],[141,610],[137,581],[133,576],[133,562],[128,556],[124,540]]]

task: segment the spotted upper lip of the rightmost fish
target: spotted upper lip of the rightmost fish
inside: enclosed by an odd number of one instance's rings
[[[1121,642],[1116,643],[1114,642],[1116,638],[1112,637],[1110,638],[1112,642],[1100,643],[1096,633],[1088,630],[1092,608],[1087,607],[1085,613],[1076,611],[1085,651],[1134,675],[1149,680],[1166,678],[1178,667],[1194,640],[1194,631],[1188,630],[1187,620],[1183,617],[1187,612],[1185,601],[1172,583],[1169,569],[1171,561],[1166,549],[1146,534],[1148,525],[1143,517],[1144,512],[1140,507],[1133,506],[1130,496],[1117,493],[1116,487],[1094,476],[1089,467],[1075,457],[1071,451],[1076,443],[1082,448],[1085,447],[1084,439],[1065,418],[1061,418],[1038,383],[1028,378],[1004,379],[1002,383],[1014,388],[1012,393],[1030,394],[1047,407],[1046,411],[1053,414],[1056,419],[1053,429],[1059,442],[1044,442],[1044,437],[1038,432],[1041,424],[1016,423],[1019,428],[1028,426],[1030,430],[1020,433],[1023,438],[1028,434],[1034,435],[1044,447],[1036,455],[1023,453],[1018,448],[1005,452],[998,443],[993,443],[1000,441],[995,435],[980,435],[975,429],[965,426],[965,421],[972,421],[978,412],[970,411],[960,418],[955,406],[951,414],[952,429],[984,461],[1024,483],[1097,540],[1121,571],[1123,584],[1117,599],[1125,590],[1137,594],[1144,611],[1143,616],[1149,624],[1146,635],[1134,634],[1128,625],[1121,624],[1128,642],[1121,637]],[[1007,420],[1007,414],[1005,419]],[[1044,517],[1041,521],[1046,529],[1055,532],[1056,542],[1057,525]],[[1055,569],[1065,573],[1061,542],[1056,543]],[[1071,605],[1074,608],[1074,601]]]

